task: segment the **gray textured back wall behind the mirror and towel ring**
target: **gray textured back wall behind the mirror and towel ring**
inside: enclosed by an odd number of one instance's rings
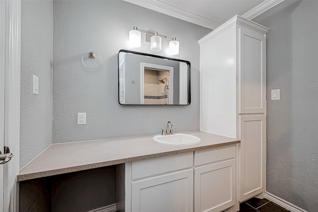
[[[125,1],[60,1],[54,6],[53,143],[199,130],[199,44],[211,30]],[[190,106],[122,106],[118,103],[117,54],[130,49],[154,54],[150,44],[128,46],[133,26],[180,41],[177,59],[191,62]],[[162,40],[161,56],[168,40]],[[89,70],[81,55],[94,51],[102,65]],[[156,53],[157,54],[157,53]],[[86,112],[86,125],[77,113]],[[186,114],[186,115],[185,115]]]

